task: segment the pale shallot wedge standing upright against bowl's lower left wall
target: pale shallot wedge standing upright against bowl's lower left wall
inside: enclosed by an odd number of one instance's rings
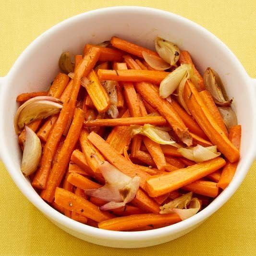
[[[25,125],[24,151],[21,162],[21,171],[25,176],[37,170],[42,155],[42,146],[37,134]]]

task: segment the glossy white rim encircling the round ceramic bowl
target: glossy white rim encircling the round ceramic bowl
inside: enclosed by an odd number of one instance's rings
[[[138,7],[138,6],[116,6],[116,7],[107,7],[107,8],[101,8],[97,10],[92,10],[89,12],[83,12],[78,15],[75,15],[73,17],[70,17],[61,23],[58,23],[51,28],[49,28],[47,31],[45,31],[43,34],[41,34],[39,37],[37,37],[24,51],[22,54],[19,56],[19,58],[15,61],[13,64],[11,70],[9,73],[6,75],[4,79],[4,84],[8,81],[9,77],[12,76],[12,73],[15,73],[15,71],[19,68],[19,63],[21,63],[24,59],[24,56],[30,51],[30,49],[33,49],[34,46],[37,45],[37,42],[41,40],[41,38],[50,36],[52,33],[54,33],[56,30],[61,28],[62,26],[65,26],[66,24],[71,24],[75,23],[79,19],[83,19],[84,16],[90,16],[90,15],[99,15],[101,13],[109,13],[111,14],[112,12],[119,12],[119,11],[127,11],[127,12],[155,12],[156,14],[159,15],[165,15],[167,17],[171,17],[173,19],[179,20],[182,23],[185,23],[187,26],[193,27],[194,30],[198,30],[201,33],[207,35],[210,37],[211,40],[215,42],[215,44],[218,44],[219,47],[224,48],[230,57],[232,58],[232,61],[235,62],[237,66],[241,69],[241,73],[244,76],[244,79],[247,79],[248,84],[252,83],[250,80],[251,78],[248,76],[246,71],[244,70],[244,67],[238,61],[238,59],[235,57],[235,55],[232,53],[232,51],[216,36],[214,36],[212,33],[210,33],[207,29],[202,27],[199,24],[196,24],[195,22],[186,19],[180,15],[177,15],[172,12],[167,12],[159,9],[154,9],[154,8],[149,8],[149,7]],[[3,85],[1,86],[3,87]],[[3,89],[3,88],[1,88]],[[255,89],[253,88],[254,92]],[[2,104],[2,103],[0,103]],[[2,109],[2,108],[0,108]],[[256,115],[256,110],[253,110],[254,116]],[[256,127],[256,121],[253,123],[254,127]],[[2,134],[0,134],[0,141],[4,141],[2,139]],[[256,135],[254,135],[254,141],[256,138]],[[44,213],[47,217],[50,219],[54,220],[55,222],[59,223],[60,225],[63,225],[67,227],[68,229],[71,229],[73,231],[76,231],[78,233],[83,233],[85,235],[97,237],[99,239],[107,239],[107,240],[113,240],[115,239],[116,241],[118,240],[126,240],[126,241],[134,241],[134,240],[149,240],[149,239],[154,239],[154,238],[160,238],[163,236],[166,236],[171,233],[177,233],[177,232],[183,232],[196,224],[199,224],[203,220],[207,219],[211,214],[213,214],[215,211],[217,211],[222,205],[224,205],[227,200],[234,194],[234,192],[237,190],[239,185],[242,183],[244,180],[244,177],[246,173],[249,170],[250,165],[252,164],[254,157],[255,157],[255,151],[256,148],[251,145],[251,148],[253,150],[250,150],[246,156],[246,161],[244,162],[243,169],[240,171],[239,175],[234,177],[232,180],[232,183],[205,209],[197,213],[195,216],[185,219],[179,223],[172,224],[167,227],[155,229],[155,230],[149,230],[149,231],[141,231],[141,232],[117,232],[117,231],[109,231],[109,230],[102,230],[98,228],[94,228],[85,224],[82,224],[80,222],[77,222],[73,219],[70,219],[57,210],[55,210],[53,207],[49,206],[43,199],[39,197],[39,195],[35,195],[34,193],[30,193],[30,189],[24,189],[24,180],[19,180],[15,176],[15,168],[12,165],[11,161],[11,156],[8,155],[8,153],[1,154],[2,161],[4,162],[9,174],[12,177],[12,180],[16,183],[18,188],[21,190],[21,192],[28,198],[28,200],[37,207],[42,213]]]

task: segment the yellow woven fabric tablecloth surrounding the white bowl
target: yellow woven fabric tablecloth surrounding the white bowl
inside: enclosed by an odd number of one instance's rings
[[[81,12],[117,5],[163,9],[201,24],[256,77],[255,0],[0,0],[0,76],[52,25]],[[195,231],[150,248],[114,249],[86,243],[50,223],[0,163],[0,255],[256,255],[255,171],[256,163],[232,199]]]

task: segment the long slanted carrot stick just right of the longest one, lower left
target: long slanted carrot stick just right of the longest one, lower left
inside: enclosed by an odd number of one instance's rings
[[[58,156],[58,160],[53,164],[52,170],[49,174],[49,179],[45,192],[43,193],[43,199],[48,202],[53,201],[55,189],[60,185],[63,175],[65,174],[65,170],[71,158],[73,148],[78,141],[84,119],[84,111],[81,109],[76,109],[74,112],[73,122],[70,126],[64,144],[61,147],[61,152]]]

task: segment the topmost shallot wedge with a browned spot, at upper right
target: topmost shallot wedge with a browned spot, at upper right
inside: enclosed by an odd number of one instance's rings
[[[161,37],[155,39],[155,48],[159,56],[171,66],[174,66],[180,58],[180,49],[177,45]]]

